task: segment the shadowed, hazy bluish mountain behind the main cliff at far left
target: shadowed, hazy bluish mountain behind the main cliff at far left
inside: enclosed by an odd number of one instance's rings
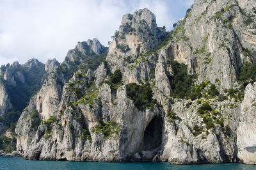
[[[41,88],[46,77],[44,66],[37,59],[29,59],[24,65],[16,61],[1,66],[0,150],[15,150],[15,123],[30,98]]]

